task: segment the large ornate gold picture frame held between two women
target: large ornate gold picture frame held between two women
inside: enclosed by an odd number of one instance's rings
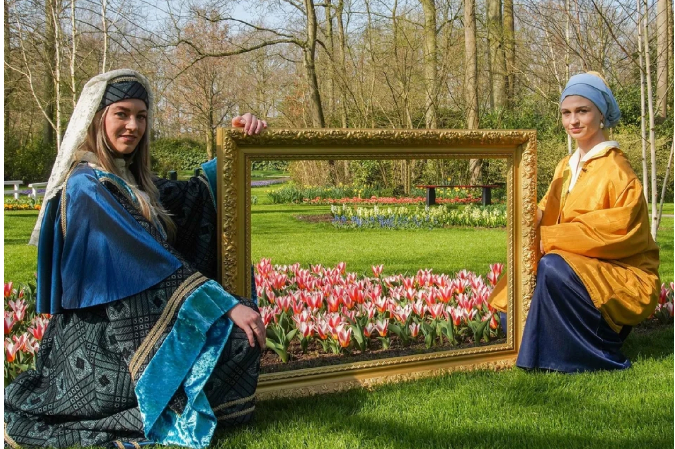
[[[302,396],[466,369],[513,365],[535,286],[537,139],[533,130],[277,129],[217,132],[219,279],[250,296],[250,167],[263,160],[506,159],[506,342],[389,359],[262,374],[259,398]]]

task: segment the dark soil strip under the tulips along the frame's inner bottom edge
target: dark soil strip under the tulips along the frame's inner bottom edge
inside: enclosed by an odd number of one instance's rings
[[[421,337],[418,337],[421,338]],[[450,349],[471,348],[472,343],[458,344],[450,346],[445,340],[443,346],[432,346],[427,349],[424,340],[412,342],[408,346],[398,340],[396,336],[390,337],[391,345],[389,349],[382,349],[382,344],[378,340],[369,340],[368,352],[360,352],[353,350],[351,354],[333,354],[332,352],[323,352],[319,342],[311,342],[307,348],[307,353],[302,354],[300,350],[300,342],[293,340],[291,342],[288,352],[290,360],[288,363],[281,363],[281,359],[276,352],[271,349],[263,351],[261,356],[261,373],[280,373],[282,371],[294,371],[296,369],[326,367],[330,365],[341,365],[342,363],[362,362],[377,359],[390,359],[391,357],[399,357],[405,355],[425,354],[427,352],[439,352]],[[506,343],[506,338],[499,338],[498,340],[491,340],[489,343],[481,343],[478,346],[486,346],[493,344]]]

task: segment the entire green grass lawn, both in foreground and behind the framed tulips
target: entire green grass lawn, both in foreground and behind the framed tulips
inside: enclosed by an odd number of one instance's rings
[[[294,215],[328,207],[269,205],[254,189],[254,260],[346,261],[350,271],[385,263],[385,273],[460,267],[483,273],[504,260],[504,230],[336,231]],[[267,203],[267,204],[266,204]],[[36,211],[5,212],[5,280],[26,282],[36,249],[27,246]],[[658,235],[661,278],[673,280],[673,219]],[[218,433],[225,448],[666,448],[674,419],[673,327],[637,327],[624,352],[632,369],[560,375],[477,371],[350,390],[313,398],[265,400],[252,423]]]

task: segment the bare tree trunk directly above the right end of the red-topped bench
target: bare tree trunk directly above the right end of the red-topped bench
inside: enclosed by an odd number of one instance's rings
[[[464,100],[466,101],[466,128],[478,128],[478,57],[476,50],[475,0],[464,0]],[[481,178],[481,159],[470,159],[471,182]]]

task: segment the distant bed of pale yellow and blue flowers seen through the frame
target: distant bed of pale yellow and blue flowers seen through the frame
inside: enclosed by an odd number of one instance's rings
[[[446,226],[483,226],[501,228],[506,226],[506,207],[495,205],[479,207],[468,205],[462,209],[445,207],[377,207],[331,206],[333,226],[336,228],[362,229],[433,229]]]

